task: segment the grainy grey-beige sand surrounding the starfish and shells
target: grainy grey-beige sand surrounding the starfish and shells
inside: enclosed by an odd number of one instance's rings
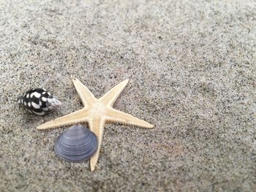
[[[256,191],[255,1],[0,1],[0,191]],[[53,151],[40,124],[122,80],[95,172]],[[46,88],[43,117],[16,99]],[[67,128],[67,127],[66,127]]]

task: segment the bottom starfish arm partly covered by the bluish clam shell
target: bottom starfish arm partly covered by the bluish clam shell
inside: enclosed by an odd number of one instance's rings
[[[99,159],[99,150],[100,150],[100,146],[102,144],[104,123],[105,123],[105,121],[102,118],[94,118],[92,120],[89,120],[89,127],[90,127],[91,131],[94,132],[94,134],[97,136],[97,139],[98,139],[97,151],[91,157],[91,160],[90,160],[91,172],[94,172],[97,161]]]

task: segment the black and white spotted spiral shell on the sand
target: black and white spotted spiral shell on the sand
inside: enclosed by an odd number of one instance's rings
[[[18,103],[35,115],[45,115],[61,105],[58,99],[42,88],[34,88],[23,93],[23,96],[18,98]]]

